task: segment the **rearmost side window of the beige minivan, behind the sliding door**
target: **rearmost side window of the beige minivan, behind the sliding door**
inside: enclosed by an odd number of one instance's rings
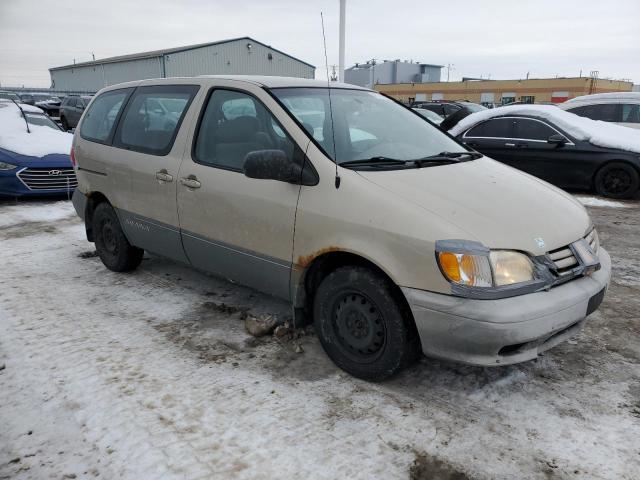
[[[82,118],[80,136],[93,142],[109,143],[118,114],[132,91],[132,88],[111,90],[98,96]]]

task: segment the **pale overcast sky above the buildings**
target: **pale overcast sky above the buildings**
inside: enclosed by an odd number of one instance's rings
[[[338,0],[0,0],[0,83],[48,87],[48,68],[251,36],[317,67],[338,63]],[[462,76],[640,83],[640,0],[347,0],[347,66],[454,64]],[[446,78],[446,71],[443,72]]]

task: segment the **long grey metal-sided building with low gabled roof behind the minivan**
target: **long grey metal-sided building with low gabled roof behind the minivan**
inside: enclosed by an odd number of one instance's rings
[[[314,78],[315,67],[251,37],[154,50],[49,69],[51,88],[96,92],[131,80],[197,75]]]

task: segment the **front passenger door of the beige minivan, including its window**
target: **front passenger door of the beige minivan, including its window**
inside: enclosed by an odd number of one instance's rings
[[[267,99],[265,99],[267,100]],[[249,152],[301,150],[255,96],[214,89],[179,173],[182,240],[196,267],[289,299],[300,185],[248,178]]]

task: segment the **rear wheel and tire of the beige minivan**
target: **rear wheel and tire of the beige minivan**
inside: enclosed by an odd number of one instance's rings
[[[129,272],[142,262],[144,250],[129,243],[115,210],[106,202],[93,212],[93,236],[98,256],[109,270]]]

